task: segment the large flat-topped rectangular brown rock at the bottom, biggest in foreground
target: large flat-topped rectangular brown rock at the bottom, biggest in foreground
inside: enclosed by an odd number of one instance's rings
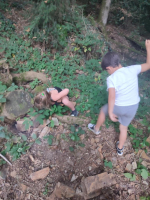
[[[105,187],[116,184],[115,175],[104,172],[96,176],[82,178],[81,187],[85,199],[91,199],[101,194]]]

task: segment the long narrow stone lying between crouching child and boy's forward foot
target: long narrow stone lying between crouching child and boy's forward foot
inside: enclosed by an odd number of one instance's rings
[[[82,126],[87,126],[88,123],[90,123],[90,119],[89,118],[85,118],[85,117],[72,117],[70,115],[63,115],[63,116],[59,116],[59,115],[54,115],[54,117],[56,117],[60,122],[62,123],[67,123],[67,124],[78,124],[78,125],[82,125]]]

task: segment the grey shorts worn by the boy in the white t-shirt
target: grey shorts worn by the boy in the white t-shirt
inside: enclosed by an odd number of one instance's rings
[[[118,121],[123,126],[128,126],[132,119],[134,118],[136,111],[139,107],[139,103],[132,105],[132,106],[114,106],[113,113],[117,115]],[[101,110],[108,115],[108,104],[105,104]]]

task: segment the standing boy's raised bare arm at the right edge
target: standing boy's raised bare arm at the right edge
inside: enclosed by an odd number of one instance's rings
[[[147,60],[146,63],[141,65],[141,72],[145,72],[150,69],[150,40],[145,41],[145,46],[147,50]]]

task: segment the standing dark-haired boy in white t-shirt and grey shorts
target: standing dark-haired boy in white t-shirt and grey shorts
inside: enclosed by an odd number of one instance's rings
[[[116,53],[107,53],[102,60],[103,70],[110,76],[107,78],[108,104],[101,108],[96,125],[88,124],[95,134],[100,134],[100,127],[109,115],[113,122],[120,122],[120,136],[116,143],[118,155],[123,155],[127,128],[138,109],[140,97],[138,91],[138,74],[150,69],[150,40],[145,41],[147,61],[142,65],[122,67]]]

